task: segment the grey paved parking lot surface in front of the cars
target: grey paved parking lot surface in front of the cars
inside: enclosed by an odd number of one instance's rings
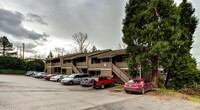
[[[200,110],[180,98],[61,85],[27,76],[0,75],[0,110]]]

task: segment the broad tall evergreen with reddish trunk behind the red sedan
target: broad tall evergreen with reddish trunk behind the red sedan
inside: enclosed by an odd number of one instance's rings
[[[134,72],[140,62],[144,72],[152,71],[152,81],[157,86],[161,59],[169,57],[172,39],[177,41],[177,21],[173,0],[130,0],[127,3],[122,31],[123,42],[131,54],[127,60],[129,72]],[[168,59],[169,63],[171,60]]]

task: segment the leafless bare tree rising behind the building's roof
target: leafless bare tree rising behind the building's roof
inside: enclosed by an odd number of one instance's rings
[[[78,45],[78,49],[75,49],[78,52],[84,52],[85,50],[87,50],[88,46],[90,43],[87,42],[88,40],[88,35],[87,33],[75,33],[74,35],[72,35],[72,38],[74,40],[74,43],[76,45]]]

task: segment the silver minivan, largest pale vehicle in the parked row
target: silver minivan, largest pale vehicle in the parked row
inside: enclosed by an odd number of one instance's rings
[[[88,74],[78,73],[78,74],[71,74],[67,78],[61,80],[61,84],[80,84],[82,78],[89,77]]]

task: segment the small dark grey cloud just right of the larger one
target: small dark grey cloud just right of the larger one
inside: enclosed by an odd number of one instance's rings
[[[29,22],[36,22],[36,23],[40,23],[40,24],[43,24],[43,25],[48,25],[43,19],[41,16],[37,15],[37,14],[33,14],[33,13],[28,13],[27,14],[27,21]]]

